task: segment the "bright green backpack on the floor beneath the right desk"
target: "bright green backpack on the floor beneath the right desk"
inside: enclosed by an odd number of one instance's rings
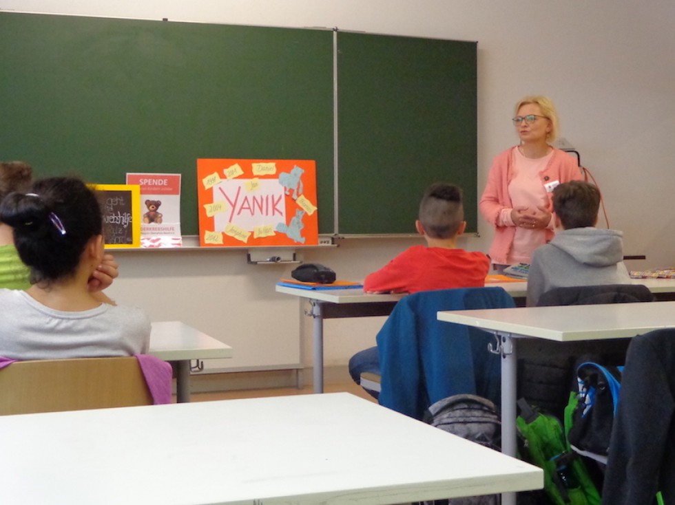
[[[544,492],[555,505],[600,505],[600,493],[579,455],[570,449],[561,422],[518,402],[516,420],[523,459],[543,469]]]

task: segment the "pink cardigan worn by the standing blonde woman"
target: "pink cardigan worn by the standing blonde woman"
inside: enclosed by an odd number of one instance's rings
[[[478,204],[483,217],[485,217],[492,226],[495,226],[495,239],[490,246],[488,256],[492,263],[507,264],[508,252],[513,244],[513,237],[516,233],[515,226],[499,226],[499,215],[503,208],[513,208],[511,199],[508,195],[508,184],[513,176],[513,149],[510,147],[499,153],[492,161],[490,174],[488,175],[488,184],[481,196]],[[551,160],[539,173],[541,185],[549,182],[569,182],[571,180],[581,180],[581,170],[577,166],[577,161],[568,153],[560,149],[553,149]],[[552,205],[551,196],[548,194],[549,204]],[[553,230],[546,229],[546,241],[553,238]]]

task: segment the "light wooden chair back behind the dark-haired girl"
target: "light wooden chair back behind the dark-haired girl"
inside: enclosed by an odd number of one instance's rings
[[[0,416],[152,405],[138,360],[17,361],[0,369]]]

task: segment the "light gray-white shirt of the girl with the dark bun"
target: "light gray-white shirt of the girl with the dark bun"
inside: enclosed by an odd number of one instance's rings
[[[0,356],[20,360],[145,354],[143,310],[101,303],[81,312],[45,307],[25,291],[0,289]]]

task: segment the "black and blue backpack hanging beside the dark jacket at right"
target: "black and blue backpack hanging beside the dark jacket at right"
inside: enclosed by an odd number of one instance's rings
[[[579,394],[570,398],[572,405],[568,405],[571,411],[568,440],[572,449],[602,463],[607,462],[610,448],[622,369],[581,363],[577,368]]]

